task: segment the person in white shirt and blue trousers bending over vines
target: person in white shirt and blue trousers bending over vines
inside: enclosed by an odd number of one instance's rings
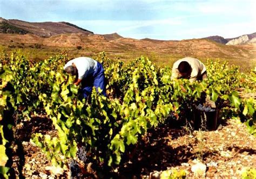
[[[68,61],[64,66],[64,70],[76,75],[74,84],[82,84],[84,98],[92,92],[92,87],[102,89],[102,94],[106,96],[106,85],[104,69],[102,64],[88,57],[79,57]]]

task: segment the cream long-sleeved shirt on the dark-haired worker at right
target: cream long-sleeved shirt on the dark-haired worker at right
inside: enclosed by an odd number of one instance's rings
[[[190,82],[197,81],[197,79],[206,71],[205,65],[202,62],[200,62],[198,59],[191,58],[191,57],[185,57],[185,58],[177,60],[175,63],[173,63],[172,76],[171,76],[172,80],[174,78],[181,77],[179,74],[178,66],[179,66],[179,63],[182,61],[188,62],[192,68],[192,71],[190,74]]]

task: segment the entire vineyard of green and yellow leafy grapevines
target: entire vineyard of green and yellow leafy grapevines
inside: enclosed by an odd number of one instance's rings
[[[66,53],[35,63],[24,56],[2,54],[0,62],[0,175],[22,176],[22,147],[31,142],[66,171],[58,177],[119,177],[119,169],[135,157],[134,150],[149,131],[164,125],[193,130],[193,112],[210,97],[219,119],[244,123],[256,136],[256,68],[240,73],[227,62],[208,61],[207,79],[190,83],[170,80],[171,68],[159,68],[146,57],[128,63],[98,55],[107,81],[107,97],[94,89],[84,99],[74,77],[63,66]],[[46,121],[44,130],[19,135],[24,123]],[[48,124],[49,123],[49,124]],[[206,130],[202,126],[201,130]],[[24,137],[25,136],[25,137]],[[134,160],[134,159],[133,159]],[[16,163],[16,167],[14,167]],[[90,167],[92,172],[88,171]],[[256,176],[255,169],[245,171]],[[167,177],[164,177],[166,176]],[[166,170],[162,178],[183,178],[185,170]],[[247,175],[247,174],[245,174]]]

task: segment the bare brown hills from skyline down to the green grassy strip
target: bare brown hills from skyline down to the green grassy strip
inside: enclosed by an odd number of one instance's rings
[[[0,33],[0,45],[8,48],[31,48],[38,44],[45,48],[77,48],[81,46],[93,53],[101,51],[133,55],[137,53],[152,55],[156,59],[158,59],[158,55],[164,56],[164,58],[167,56],[176,56],[177,58],[193,56],[220,59],[255,59],[256,56],[256,33],[245,35],[245,39],[247,39],[243,43],[246,45],[228,46],[224,44],[227,39],[220,36],[180,41],[149,38],[137,40],[123,38],[117,33],[93,34],[66,22],[29,23],[22,20],[0,18],[0,30],[2,32]]]

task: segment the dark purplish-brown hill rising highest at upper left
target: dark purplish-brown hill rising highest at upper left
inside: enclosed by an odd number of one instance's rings
[[[17,19],[3,19],[0,18],[0,32],[2,33],[19,33],[19,34],[35,34],[41,37],[51,37],[53,35],[64,33],[81,33],[84,35],[93,34],[76,25],[65,22],[43,22],[30,23]]]

